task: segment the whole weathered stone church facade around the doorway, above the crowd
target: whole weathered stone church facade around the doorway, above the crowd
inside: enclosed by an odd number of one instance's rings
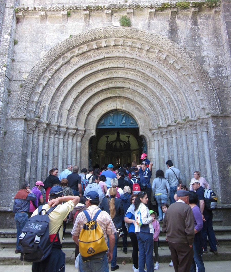
[[[168,159],[187,185],[199,170],[231,223],[230,0],[177,3],[1,0],[1,227],[24,180],[89,166],[111,112],[136,122],[153,178]]]

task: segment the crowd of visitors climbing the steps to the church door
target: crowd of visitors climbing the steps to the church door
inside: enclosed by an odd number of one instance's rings
[[[217,254],[216,239],[212,228],[212,211],[205,208],[203,188],[210,188],[200,172],[195,171],[189,184],[190,190],[183,184],[179,169],[173,166],[171,160],[166,162],[165,173],[156,171],[152,185],[153,163],[147,159],[147,154],[141,155],[141,163],[124,164],[115,168],[109,163],[99,168],[96,165],[81,169],[68,164],[58,176],[59,170],[53,168],[44,182],[37,181],[30,190],[28,182],[22,184],[14,197],[14,213],[17,227],[17,245],[15,253],[20,253],[19,236],[28,221],[28,214],[38,214],[38,206],[48,210],[50,206],[58,205],[49,222],[50,236],[56,235],[56,244],[62,245],[66,222],[73,222],[72,238],[75,242],[75,257],[79,255],[78,239],[86,223],[86,210],[93,218],[99,209],[97,222],[103,230],[108,252],[100,260],[83,261],[79,257],[80,271],[111,271],[119,269],[117,264],[118,237],[116,228],[123,230],[123,253],[127,254],[127,236],[132,243],[133,270],[148,272],[159,270],[159,222],[163,222],[162,231],[166,233],[171,251],[172,261],[179,272],[205,271],[202,253],[207,253],[207,236],[210,251]],[[83,182],[86,187],[83,187]],[[152,197],[153,193],[153,197]],[[156,203],[155,203],[156,202]],[[170,202],[170,205],[169,205]],[[65,205],[62,205],[65,203]],[[156,205],[153,205],[155,203]],[[59,224],[63,224],[58,231]],[[153,251],[155,264],[153,261]],[[55,246],[51,255],[41,263],[33,263],[32,271],[65,271],[65,254],[60,246]],[[55,259],[59,261],[54,265]],[[54,270],[54,267],[55,270]]]

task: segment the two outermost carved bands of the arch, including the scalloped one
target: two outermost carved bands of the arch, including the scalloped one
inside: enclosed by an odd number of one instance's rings
[[[200,100],[203,100],[203,103],[207,104],[206,107],[209,112],[215,114],[220,112],[220,104],[208,75],[206,75],[202,67],[200,67],[200,65],[177,44],[163,36],[148,32],[147,30],[138,30],[135,28],[128,29],[126,27],[102,27],[88,30],[87,32],[73,36],[70,39],[66,39],[52,48],[40,61],[38,61],[23,84],[16,110],[17,115],[28,114],[28,103],[30,103],[30,98],[34,97],[32,94],[35,92],[35,89],[39,95],[39,92],[42,92],[50,79],[53,78],[54,74],[65,67],[71,59],[79,59],[82,67],[85,67],[85,53],[92,51],[90,54],[95,56],[95,58],[98,58],[98,55],[101,52],[95,51],[95,49],[99,50],[100,48],[105,48],[104,54],[107,54],[108,50],[117,46],[122,46],[124,49],[126,48],[126,51],[124,52],[137,51],[137,54],[141,54],[143,59],[146,59],[147,55],[155,57],[159,63],[158,65],[171,68],[170,70],[175,73],[175,77],[178,77],[179,75],[185,77],[185,81],[188,82],[188,85],[184,89],[187,93],[185,97],[191,97],[193,93],[199,92],[201,97]],[[129,48],[130,51],[127,51]],[[123,48],[118,50],[118,52],[121,50],[123,50]],[[143,54],[140,50],[146,51],[146,53]],[[154,66],[153,68],[155,68],[156,71],[159,71],[158,66]],[[157,74],[159,73],[160,72],[157,72]],[[183,81],[180,81],[180,84],[184,85]],[[39,97],[38,95],[36,97]],[[38,98],[35,99],[38,100]],[[194,100],[195,99],[191,98],[191,101],[188,102],[188,108],[192,108],[192,101]],[[33,105],[36,105],[35,102],[36,101],[34,100]],[[30,111],[33,112],[32,110]],[[186,113],[183,107],[181,107],[180,111],[182,115]],[[193,112],[194,110],[192,110],[191,115],[194,114]]]

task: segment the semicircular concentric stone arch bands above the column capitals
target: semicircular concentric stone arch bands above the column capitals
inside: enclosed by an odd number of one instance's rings
[[[177,44],[145,30],[104,27],[44,55],[25,81],[16,114],[63,124],[71,118],[75,126],[96,101],[105,106],[105,95],[144,107],[161,125],[220,112],[208,75]]]

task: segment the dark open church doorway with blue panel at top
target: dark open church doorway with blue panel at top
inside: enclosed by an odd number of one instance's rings
[[[121,111],[104,115],[96,127],[96,136],[89,141],[89,166],[112,163],[120,167],[124,163],[139,162],[146,149],[145,139],[139,135],[135,119]]]

